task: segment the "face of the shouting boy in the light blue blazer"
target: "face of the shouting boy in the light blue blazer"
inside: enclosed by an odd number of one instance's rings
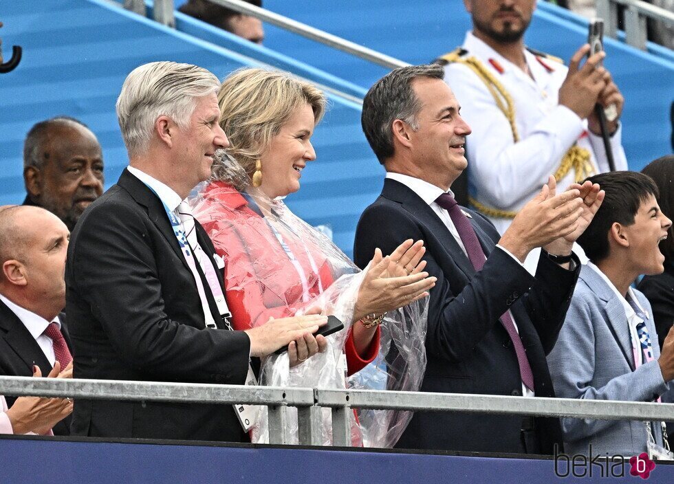
[[[664,271],[664,255],[660,242],[666,239],[672,221],[664,216],[653,195],[642,201],[634,217],[634,223],[622,229],[629,243],[631,264],[637,274],[661,274]]]

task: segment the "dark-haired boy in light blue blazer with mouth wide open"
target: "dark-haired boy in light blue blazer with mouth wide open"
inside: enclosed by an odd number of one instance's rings
[[[556,395],[657,401],[674,380],[674,330],[658,348],[651,305],[630,287],[640,274],[660,274],[658,248],[672,222],[657,206],[657,186],[642,173],[589,177],[605,199],[578,244],[590,262],[580,270],[571,306],[548,355]],[[565,452],[638,455],[664,446],[662,422],[563,418]]]

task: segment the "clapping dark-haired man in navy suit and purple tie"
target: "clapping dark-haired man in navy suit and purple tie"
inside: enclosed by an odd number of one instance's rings
[[[358,222],[354,259],[363,267],[375,248],[424,240],[426,271],[437,283],[422,391],[551,397],[545,355],[578,278],[572,245],[602,194],[586,184],[556,195],[550,177],[503,236],[457,206],[450,186],[466,168],[470,127],[442,79],[436,65],[404,67],[365,96],[363,131],[387,177]],[[534,277],[523,261],[537,247]],[[558,419],[417,412],[398,447],[545,454],[556,442]]]

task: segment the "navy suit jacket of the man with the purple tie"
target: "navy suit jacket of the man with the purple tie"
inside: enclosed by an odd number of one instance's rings
[[[464,209],[466,210],[466,209]],[[578,278],[547,256],[532,277],[517,261],[494,249],[499,234],[477,212],[470,222],[488,259],[475,272],[444,223],[415,192],[386,179],[382,195],[363,212],[354,259],[365,267],[381,248],[390,254],[406,239],[426,244],[426,271],[437,277],[428,309],[428,365],[422,391],[521,395],[517,355],[499,322],[512,311],[534,374],[535,393],[554,395],[545,355],[552,350]],[[400,448],[521,452],[519,416],[417,412]],[[543,452],[561,445],[558,419],[536,419]]]

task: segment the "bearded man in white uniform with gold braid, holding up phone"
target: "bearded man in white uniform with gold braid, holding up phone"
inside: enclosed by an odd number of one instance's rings
[[[466,144],[470,203],[503,233],[517,211],[555,175],[566,187],[609,170],[594,105],[611,106],[611,151],[627,169],[620,140],[624,98],[602,67],[605,54],[581,47],[569,68],[528,50],[523,35],[535,0],[464,0],[472,32],[439,58],[472,127]],[[609,112],[609,111],[607,111]],[[538,261],[538,254],[531,254]],[[535,267],[535,263],[534,263]]]

